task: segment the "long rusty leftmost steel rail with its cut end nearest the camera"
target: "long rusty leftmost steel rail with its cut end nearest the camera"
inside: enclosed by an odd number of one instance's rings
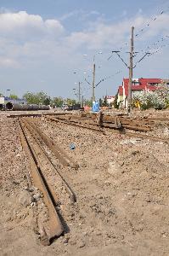
[[[55,237],[60,236],[64,232],[64,227],[61,224],[59,215],[54,207],[54,198],[52,197],[51,192],[48,189],[47,183],[45,182],[45,179],[42,176],[42,166],[38,165],[35,151],[32,148],[32,145],[28,140],[28,137],[26,136],[24,124],[20,122],[20,120],[19,123],[20,141],[25,151],[25,154],[30,162],[32,183],[40,191],[42,191],[43,201],[45,205],[48,207],[48,220],[42,224],[43,231],[40,234],[40,236],[42,244],[49,245]]]

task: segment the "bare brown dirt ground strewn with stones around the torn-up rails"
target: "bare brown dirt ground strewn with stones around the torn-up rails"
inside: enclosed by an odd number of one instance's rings
[[[16,120],[7,114],[0,113],[0,255],[169,255],[167,143],[36,118],[42,131],[80,166],[75,170],[58,165],[77,201],[72,204],[60,196],[66,233],[44,247],[35,224],[43,203],[31,200],[38,191],[27,190],[29,163]],[[169,139],[166,126],[155,133]]]

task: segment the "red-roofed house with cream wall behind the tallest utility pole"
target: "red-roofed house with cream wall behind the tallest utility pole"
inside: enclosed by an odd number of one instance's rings
[[[162,79],[132,79],[132,96],[142,90],[157,90],[157,85],[163,82]],[[120,107],[127,108],[129,79],[123,79],[122,85],[118,88],[117,104]]]

